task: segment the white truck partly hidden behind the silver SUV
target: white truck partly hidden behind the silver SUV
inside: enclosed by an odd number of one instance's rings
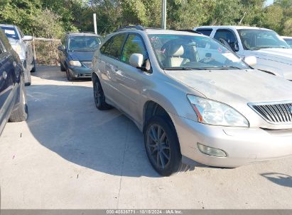
[[[242,58],[255,56],[254,68],[292,80],[292,50],[273,30],[244,26],[203,26],[194,30],[222,42]]]

